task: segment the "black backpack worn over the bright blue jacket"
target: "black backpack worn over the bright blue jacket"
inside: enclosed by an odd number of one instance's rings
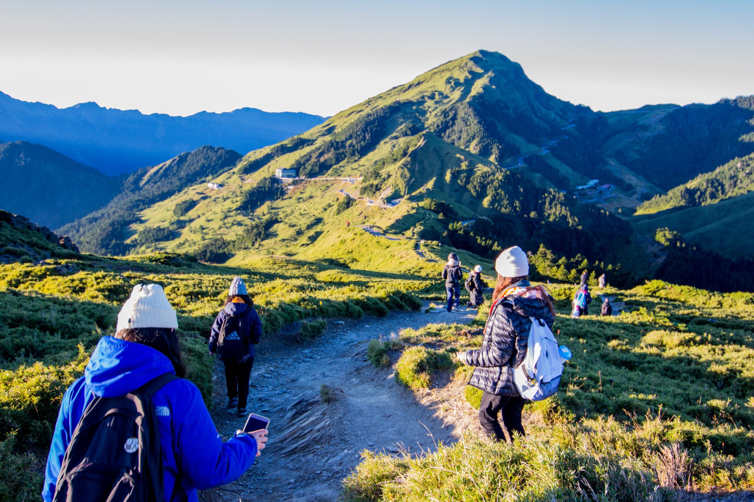
[[[66,448],[53,502],[162,502],[163,463],[152,396],[165,373],[123,397],[95,397]],[[179,477],[170,500],[176,497]]]

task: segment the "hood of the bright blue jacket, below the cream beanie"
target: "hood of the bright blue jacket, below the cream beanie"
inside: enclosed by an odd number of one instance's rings
[[[95,396],[118,397],[164,373],[175,373],[175,369],[159,350],[104,336],[92,353],[84,377]]]

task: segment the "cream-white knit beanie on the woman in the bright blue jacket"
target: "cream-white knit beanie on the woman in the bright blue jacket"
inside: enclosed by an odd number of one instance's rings
[[[136,284],[131,297],[126,300],[118,314],[118,327],[129,328],[173,328],[178,329],[176,311],[167,301],[167,296],[159,284]]]

